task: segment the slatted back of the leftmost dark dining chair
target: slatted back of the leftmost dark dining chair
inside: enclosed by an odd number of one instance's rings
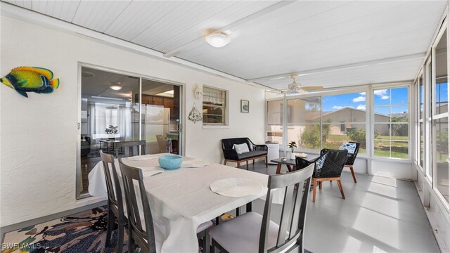
[[[119,212],[123,213],[122,190],[120,189],[119,176],[117,176],[114,165],[114,157],[103,153],[102,150],[100,150],[100,157],[105,174],[108,205],[113,205]]]

